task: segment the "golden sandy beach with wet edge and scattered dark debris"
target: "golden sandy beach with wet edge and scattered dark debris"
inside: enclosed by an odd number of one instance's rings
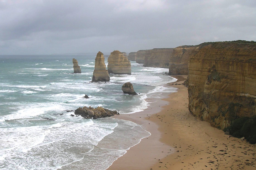
[[[187,76],[173,76],[166,86],[177,92],[163,99],[148,99],[150,106],[135,114],[114,118],[140,124],[151,135],[118,158],[108,170],[254,170],[256,146],[225,135],[188,110],[188,90],[181,85]],[[177,84],[177,85],[175,85]]]

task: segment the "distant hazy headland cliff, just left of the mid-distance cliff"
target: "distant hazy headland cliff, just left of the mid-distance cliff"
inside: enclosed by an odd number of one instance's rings
[[[146,50],[143,66],[168,68],[172,51],[173,48],[154,48],[152,50]]]

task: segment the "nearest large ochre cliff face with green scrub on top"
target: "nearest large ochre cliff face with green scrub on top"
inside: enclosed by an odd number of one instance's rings
[[[256,43],[203,43],[189,59],[189,111],[225,129],[256,115]]]

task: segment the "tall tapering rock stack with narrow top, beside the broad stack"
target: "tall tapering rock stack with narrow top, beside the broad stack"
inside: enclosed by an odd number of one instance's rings
[[[95,58],[95,67],[93,71],[92,82],[109,82],[110,77],[108,70],[106,70],[105,58],[102,52],[98,52]]]

